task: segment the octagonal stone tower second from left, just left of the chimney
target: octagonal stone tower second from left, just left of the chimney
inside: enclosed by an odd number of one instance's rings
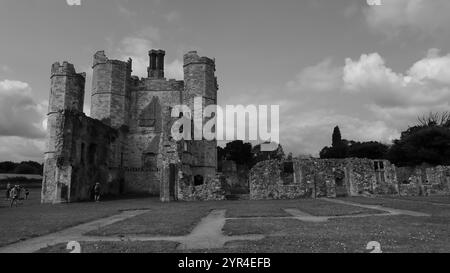
[[[91,117],[112,128],[128,125],[132,61],[109,60],[104,51],[94,55]]]

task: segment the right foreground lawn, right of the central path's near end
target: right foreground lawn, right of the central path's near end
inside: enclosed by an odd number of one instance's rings
[[[450,252],[450,207],[391,198],[345,200],[422,211],[432,216],[346,218],[325,223],[294,219],[228,220],[224,227],[227,235],[265,234],[267,237],[256,242],[231,242],[215,251],[368,252],[367,243],[377,241],[384,252]]]

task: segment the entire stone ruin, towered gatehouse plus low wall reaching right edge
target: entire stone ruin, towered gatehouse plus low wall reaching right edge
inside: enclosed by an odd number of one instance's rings
[[[225,162],[217,173],[216,141],[171,136],[181,117],[173,117],[175,106],[193,109],[195,98],[203,107],[217,104],[215,60],[189,52],[184,80],[168,80],[164,56],[151,50],[148,76],[140,79],[131,59],[97,52],[90,117],[83,113],[86,75],[70,63],[53,64],[43,203],[92,199],[97,182],[103,194],[152,194],[164,202],[223,200],[235,185],[254,200],[450,194],[450,166],[397,168],[386,160],[268,160],[251,170]]]

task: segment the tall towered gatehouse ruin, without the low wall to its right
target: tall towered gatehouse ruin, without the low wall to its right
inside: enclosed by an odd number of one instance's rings
[[[184,80],[164,77],[162,50],[149,52],[148,77],[132,75],[132,60],[93,58],[91,117],[83,113],[85,73],[72,64],[51,69],[43,203],[88,200],[95,183],[104,194],[146,193],[162,201],[214,199],[216,141],[174,141],[175,105],[217,104],[215,60],[184,55]],[[219,193],[217,193],[219,194]],[[223,196],[223,194],[220,194]]]

